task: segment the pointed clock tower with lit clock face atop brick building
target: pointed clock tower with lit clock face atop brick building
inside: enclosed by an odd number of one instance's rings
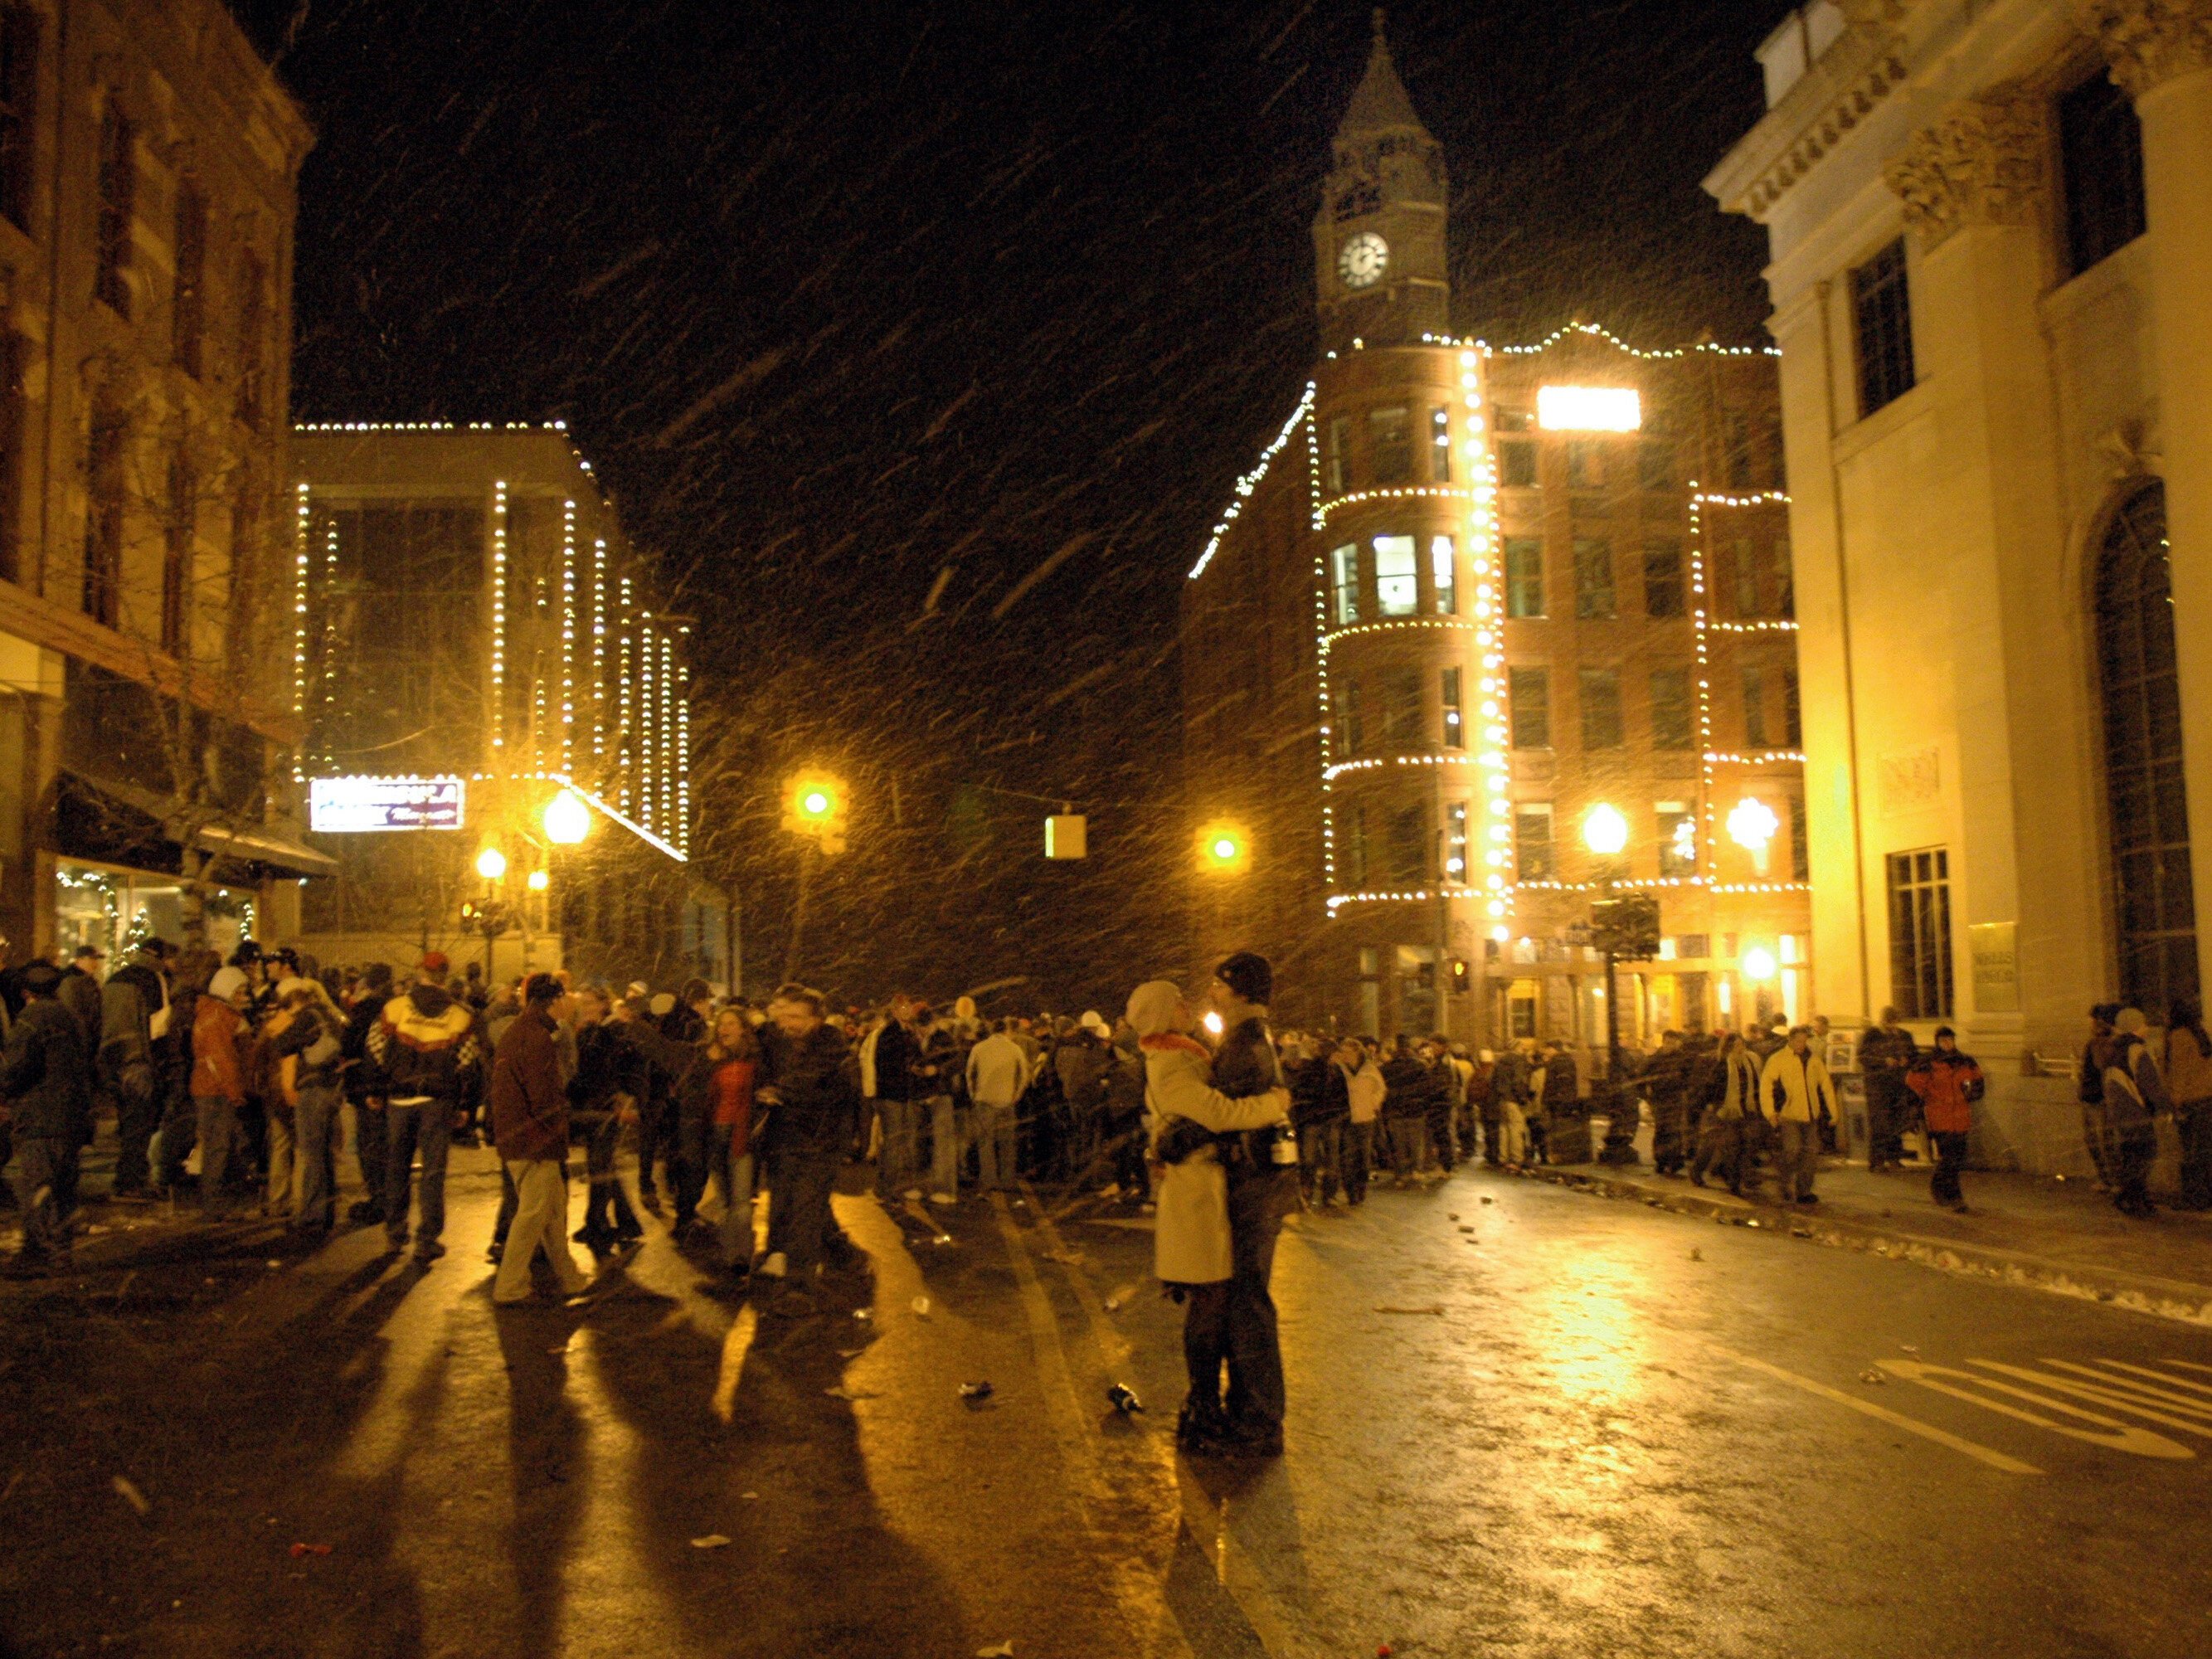
[[[1444,150],[1413,113],[1383,40],[1336,128],[1336,166],[1314,215],[1321,345],[1400,345],[1451,332]]]

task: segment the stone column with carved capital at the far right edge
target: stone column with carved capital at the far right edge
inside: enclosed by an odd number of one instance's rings
[[[2212,987],[2212,0],[2084,0],[2143,119],[2199,980]]]

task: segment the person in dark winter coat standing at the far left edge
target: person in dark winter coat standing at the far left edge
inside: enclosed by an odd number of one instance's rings
[[[84,1060],[84,1031],[55,991],[62,971],[31,962],[22,971],[29,993],[0,1055],[0,1097],[15,1139],[15,1203],[22,1210],[22,1250],[9,1276],[27,1279],[69,1267],[69,1210],[77,1148],[91,1133],[93,1086]]]

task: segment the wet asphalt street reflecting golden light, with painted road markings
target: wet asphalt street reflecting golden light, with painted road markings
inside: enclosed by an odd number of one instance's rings
[[[1292,1223],[1290,1455],[1190,1464],[1137,1217],[843,1197],[814,1318],[661,1232],[493,1314],[489,1155],[451,1192],[427,1272],[0,1296],[9,1652],[2212,1652],[2183,1325],[1462,1172]]]

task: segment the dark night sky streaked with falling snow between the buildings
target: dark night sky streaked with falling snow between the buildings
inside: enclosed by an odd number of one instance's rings
[[[801,958],[838,995],[1181,971],[1177,586],[1314,352],[1367,7],[237,4],[321,135],[294,418],[571,422],[699,615],[748,984],[803,761],[856,792]],[[1761,338],[1763,234],[1697,181],[1785,11],[1391,9],[1458,327]],[[1071,796],[1095,856],[993,790]]]

